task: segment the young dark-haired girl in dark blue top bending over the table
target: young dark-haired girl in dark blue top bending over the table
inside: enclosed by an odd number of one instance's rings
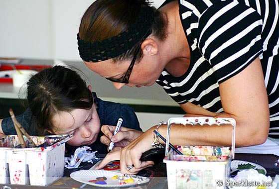
[[[101,125],[116,125],[139,130],[134,110],[125,104],[103,101],[91,92],[80,75],[64,66],[54,66],[35,74],[27,82],[28,108],[16,119],[29,135],[73,134],[67,142],[68,153],[89,146],[108,153],[100,138]],[[0,135],[16,134],[11,118],[0,119]]]

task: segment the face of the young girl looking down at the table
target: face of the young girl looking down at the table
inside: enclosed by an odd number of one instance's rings
[[[100,132],[101,123],[95,104],[91,109],[62,111],[52,118],[54,134],[73,134],[67,143],[72,146],[93,144]]]

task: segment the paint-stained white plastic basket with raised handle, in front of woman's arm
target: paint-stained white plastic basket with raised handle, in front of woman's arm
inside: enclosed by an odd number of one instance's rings
[[[168,150],[172,124],[232,126],[232,146],[184,146]],[[235,151],[235,119],[213,117],[175,117],[168,119],[165,158],[168,189],[226,189],[231,159]],[[217,186],[223,182],[222,186]]]

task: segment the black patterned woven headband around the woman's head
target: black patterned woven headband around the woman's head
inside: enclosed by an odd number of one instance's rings
[[[136,22],[126,31],[102,41],[83,41],[78,39],[79,55],[87,62],[99,62],[118,57],[152,33],[154,19],[152,7],[142,7]]]

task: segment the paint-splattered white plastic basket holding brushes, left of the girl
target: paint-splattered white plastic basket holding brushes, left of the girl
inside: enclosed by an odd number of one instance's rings
[[[20,148],[17,135],[0,138],[0,184],[48,186],[63,177],[65,142],[72,135],[30,136],[37,147]]]

